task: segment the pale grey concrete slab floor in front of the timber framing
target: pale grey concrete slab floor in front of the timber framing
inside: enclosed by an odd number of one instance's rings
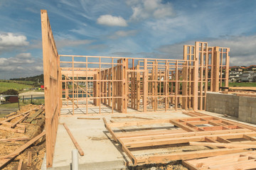
[[[124,162],[127,160],[126,154],[122,152],[122,148],[120,148],[119,145],[112,141],[110,137],[111,135],[106,130],[102,118],[106,118],[107,121],[109,121],[112,116],[127,115],[136,115],[139,117],[154,119],[188,117],[188,115],[182,114],[181,111],[139,114],[114,113],[111,115],[90,116],[90,118],[100,118],[100,120],[78,119],[78,117],[81,116],[61,116],[59,119],[52,169],[70,169],[70,163],[72,160],[71,151],[72,149],[75,149],[75,145],[73,145],[72,140],[70,140],[68,132],[65,130],[62,123],[65,123],[68,126],[83,152],[85,152],[84,156],[81,157],[79,155],[80,169],[125,169],[126,166],[124,166]],[[129,120],[142,119],[132,118]],[[127,119],[122,119],[122,121],[127,121]],[[164,127],[165,125],[162,126]],[[153,128],[154,125],[151,125],[151,127]],[[155,152],[159,152],[159,150],[156,149]],[[137,154],[137,152],[134,152],[134,154]]]

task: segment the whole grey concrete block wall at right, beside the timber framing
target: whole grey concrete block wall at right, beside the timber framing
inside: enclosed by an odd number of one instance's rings
[[[256,98],[208,92],[206,111],[227,114],[238,120],[256,124]]]

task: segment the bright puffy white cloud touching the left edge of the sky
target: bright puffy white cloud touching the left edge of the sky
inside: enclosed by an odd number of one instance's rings
[[[11,50],[15,47],[29,45],[25,35],[15,35],[14,33],[0,33],[0,50]]]

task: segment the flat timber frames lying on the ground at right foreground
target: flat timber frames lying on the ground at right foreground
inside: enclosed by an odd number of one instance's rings
[[[247,169],[256,169],[256,157],[243,156],[244,152],[256,149],[255,127],[202,113],[183,113],[191,117],[110,123],[105,118],[103,120],[113,140],[121,145],[129,157],[127,164],[130,166],[168,164],[182,160],[189,169],[209,169],[213,162],[218,164],[216,160],[225,159],[225,156],[218,157],[234,154],[239,159],[227,160],[228,165],[235,164],[233,169],[246,162],[252,163],[246,166]],[[156,152],[157,149],[159,152]],[[201,159],[206,157],[208,159]],[[189,159],[193,161],[186,162]],[[202,162],[209,164],[203,166]],[[228,167],[227,164],[223,161],[223,167]],[[213,169],[219,167],[221,169],[221,164]]]

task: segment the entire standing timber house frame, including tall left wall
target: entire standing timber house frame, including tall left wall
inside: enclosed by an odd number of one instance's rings
[[[59,55],[41,11],[46,159],[53,164],[60,110],[75,115],[204,110],[206,92],[228,86],[228,47],[184,45],[183,59]],[[62,112],[63,113],[63,112]],[[65,113],[65,112],[64,112]]]

